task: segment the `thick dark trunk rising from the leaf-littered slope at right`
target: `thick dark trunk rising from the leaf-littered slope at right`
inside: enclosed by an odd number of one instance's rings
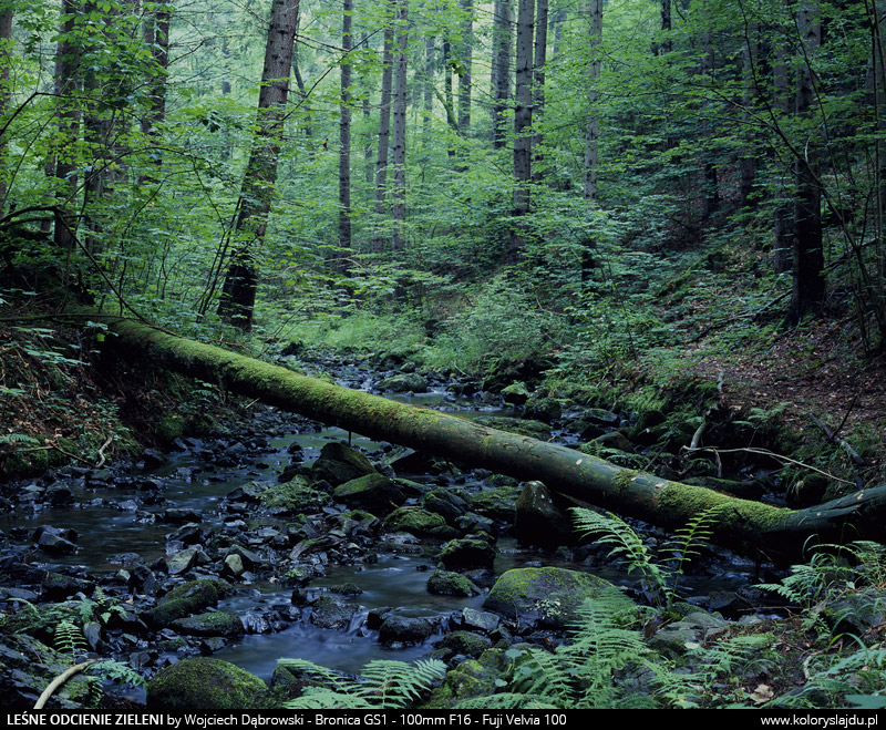
[[[814,71],[811,68],[822,42],[822,30],[815,2],[801,2],[796,13],[797,31],[805,61],[797,71],[797,116],[812,114],[815,96]],[[810,311],[817,311],[824,302],[824,240],[822,236],[822,191],[818,186],[817,131],[811,130],[805,156],[794,164],[796,197],[794,204],[794,274],[791,290],[790,321],[797,321]]]

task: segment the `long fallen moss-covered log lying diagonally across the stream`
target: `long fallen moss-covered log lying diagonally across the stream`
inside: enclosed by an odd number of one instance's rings
[[[93,315],[94,316],[94,315]],[[549,489],[667,528],[720,506],[714,542],[773,559],[801,557],[810,537],[846,541],[880,537],[876,517],[886,486],[805,510],[736,498],[712,490],[627,470],[574,449],[497,431],[456,415],[406,405],[341,388],[228,350],[175,337],[144,323],[105,318],[119,352],[203,380],[271,405]]]

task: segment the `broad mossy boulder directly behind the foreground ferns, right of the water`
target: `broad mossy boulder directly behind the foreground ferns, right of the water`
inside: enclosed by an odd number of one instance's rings
[[[611,583],[590,573],[515,568],[495,582],[483,608],[521,625],[566,629],[580,620],[585,600],[612,588]]]

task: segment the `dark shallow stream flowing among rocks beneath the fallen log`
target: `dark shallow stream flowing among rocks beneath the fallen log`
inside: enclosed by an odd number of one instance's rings
[[[334,366],[327,362],[323,368]],[[383,376],[390,373],[374,373],[365,366],[340,366],[336,370],[339,384],[364,390],[378,385]],[[482,393],[455,397],[447,383],[431,383],[425,393],[390,395],[467,418],[516,415],[499,401],[485,402]],[[392,463],[399,483],[408,485],[406,507],[418,505],[433,487],[456,495],[455,501],[462,504],[457,495],[467,496],[470,503],[472,495],[496,489],[496,494],[502,494],[503,485],[516,494],[516,480],[496,477],[484,470],[462,472],[452,464],[410,455],[408,450],[265,405],[254,405],[249,415],[228,431],[225,436],[179,439],[165,453],[146,450],[140,462],[127,466],[69,467],[45,483],[8,485],[7,491],[18,491],[23,506],[0,515],[0,528],[8,538],[3,564],[9,567],[20,562],[68,576],[70,584],[64,583],[55,598],[89,594],[89,587],[97,584],[110,600],[134,604],[142,617],[154,600],[142,594],[162,596],[181,585],[182,578],[223,577],[233,589],[220,598],[217,609],[238,616],[243,633],[224,631],[219,637],[195,628],[196,636],[188,636],[179,625],[175,629],[163,626],[153,634],[137,615],[121,611],[117,623],[110,621],[101,638],[91,638],[91,648],[127,660],[147,675],[185,656],[213,655],[268,681],[281,657],[357,672],[371,659],[410,661],[429,655],[445,633],[455,629],[501,631],[499,617],[483,610],[483,603],[496,577],[515,567],[558,566],[587,572],[593,566],[596,575],[641,593],[635,576],[612,565],[599,549],[539,551],[524,546],[526,535],[517,539],[513,520],[502,520],[501,511],[495,510],[486,513],[492,516],[484,516],[478,514],[480,508],[465,508],[457,522],[461,529],[444,535],[463,536],[478,529],[497,534],[491,565],[468,561],[455,568],[478,587],[477,595],[430,593],[429,576],[435,570],[442,537],[380,528],[378,521],[361,527],[343,516],[351,514],[343,512],[343,505],[331,502],[310,517],[289,510],[275,514],[257,504],[254,495],[262,486],[277,484],[284,470],[291,476],[293,469],[315,464],[322,448],[334,442],[349,443],[377,465]],[[553,439],[568,443],[575,435],[555,431]],[[426,469],[416,469],[416,464],[426,464]],[[47,532],[61,539],[41,541],[41,533]],[[660,538],[649,539],[655,543]],[[42,547],[41,542],[45,543]],[[206,555],[230,555],[225,548],[235,545],[241,558],[236,565]],[[187,566],[176,563],[195,547],[203,564],[200,559]],[[279,565],[290,549],[299,554],[302,566],[295,576]],[[743,597],[748,586],[756,582],[752,561],[719,549],[705,554],[702,566],[699,575],[687,576],[682,586],[691,603],[723,610],[732,619],[753,613]],[[8,599],[32,603],[52,593],[44,589],[39,599],[37,592],[3,590]],[[323,595],[331,600],[318,603]],[[380,624],[391,616],[419,619],[424,630],[412,634],[413,621],[405,625],[402,637],[382,637]],[[550,627],[523,628],[529,641],[563,638],[563,631]],[[143,701],[143,693],[135,691],[131,699]]]

